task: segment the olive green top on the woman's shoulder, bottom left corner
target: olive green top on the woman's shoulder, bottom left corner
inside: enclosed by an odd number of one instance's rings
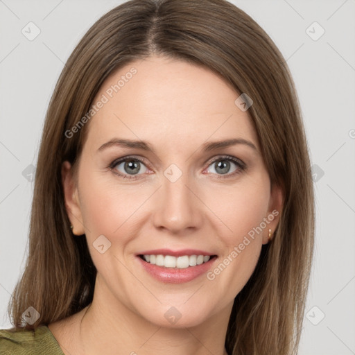
[[[46,325],[35,330],[0,330],[1,355],[64,355],[53,334]]]

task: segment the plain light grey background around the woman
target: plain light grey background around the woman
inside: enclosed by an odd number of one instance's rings
[[[6,306],[24,269],[31,172],[55,82],[87,29],[121,2],[0,0],[0,329],[11,327]],[[315,259],[300,355],[355,354],[355,0],[231,2],[287,59],[317,174]],[[21,33],[29,21],[41,31],[33,41]],[[309,28],[314,21],[325,31],[318,40],[309,36],[321,33]]]

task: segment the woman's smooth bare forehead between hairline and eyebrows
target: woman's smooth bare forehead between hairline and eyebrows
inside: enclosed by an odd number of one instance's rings
[[[174,148],[213,139],[248,138],[257,144],[239,95],[209,69],[171,58],[150,57],[115,71],[93,104],[89,124],[94,146],[113,137],[157,141]]]

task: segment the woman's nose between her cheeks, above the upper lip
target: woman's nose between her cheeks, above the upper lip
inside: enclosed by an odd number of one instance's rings
[[[203,204],[193,186],[187,174],[175,182],[163,177],[154,207],[153,222],[157,229],[186,235],[201,227]]]

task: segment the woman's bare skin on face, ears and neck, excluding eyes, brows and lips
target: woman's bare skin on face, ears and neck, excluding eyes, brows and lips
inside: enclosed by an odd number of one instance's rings
[[[248,111],[234,104],[239,95],[208,69],[150,56],[113,73],[94,102],[132,67],[137,74],[85,127],[77,184],[69,162],[62,166],[73,232],[86,234],[98,274],[92,304],[49,329],[64,354],[226,354],[234,297],[252,275],[279,216],[213,280],[202,275],[162,283],[135,255],[157,248],[205,250],[218,256],[213,270],[263,218],[281,211],[282,192],[270,187]],[[115,137],[148,141],[155,153],[120,146],[98,152]],[[202,152],[206,141],[231,138],[256,149],[236,144]],[[128,155],[144,159],[137,180],[114,173],[129,175],[124,163],[107,168]],[[230,162],[223,175],[215,163],[225,155],[247,167],[242,171]],[[164,175],[171,164],[182,172],[176,182]],[[101,234],[111,242],[103,254],[93,246]],[[175,324],[164,317],[171,306],[181,314]]]

